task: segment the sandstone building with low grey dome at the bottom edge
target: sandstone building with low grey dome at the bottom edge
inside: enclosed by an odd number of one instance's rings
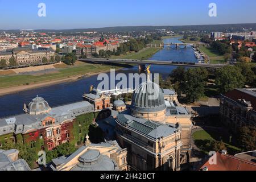
[[[127,171],[127,151],[117,142],[86,144],[69,156],[52,159],[53,171]]]

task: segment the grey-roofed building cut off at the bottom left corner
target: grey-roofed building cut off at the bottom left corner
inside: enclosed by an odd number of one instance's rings
[[[18,158],[16,149],[0,150],[0,171],[31,171],[24,159]]]

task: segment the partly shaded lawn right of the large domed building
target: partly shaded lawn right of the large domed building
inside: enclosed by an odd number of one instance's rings
[[[208,154],[209,152],[209,149],[206,146],[207,143],[210,142],[210,140],[219,141],[220,139],[223,140],[229,154],[234,155],[241,152],[240,148],[233,146],[233,144],[230,144],[227,141],[228,138],[226,137],[226,134],[222,134],[220,132],[201,130],[193,133],[192,137],[193,137],[193,140],[195,141],[196,146],[201,148],[202,151],[205,152],[205,154]]]

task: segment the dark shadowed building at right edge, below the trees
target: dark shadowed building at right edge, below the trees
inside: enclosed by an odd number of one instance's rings
[[[256,89],[234,89],[221,96],[221,121],[233,133],[242,126],[256,126]]]

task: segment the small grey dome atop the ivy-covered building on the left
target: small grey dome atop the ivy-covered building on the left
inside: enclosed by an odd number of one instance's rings
[[[42,97],[36,96],[36,98],[32,99],[30,104],[28,104],[28,110],[30,112],[40,112],[48,109],[50,109],[49,104]]]

